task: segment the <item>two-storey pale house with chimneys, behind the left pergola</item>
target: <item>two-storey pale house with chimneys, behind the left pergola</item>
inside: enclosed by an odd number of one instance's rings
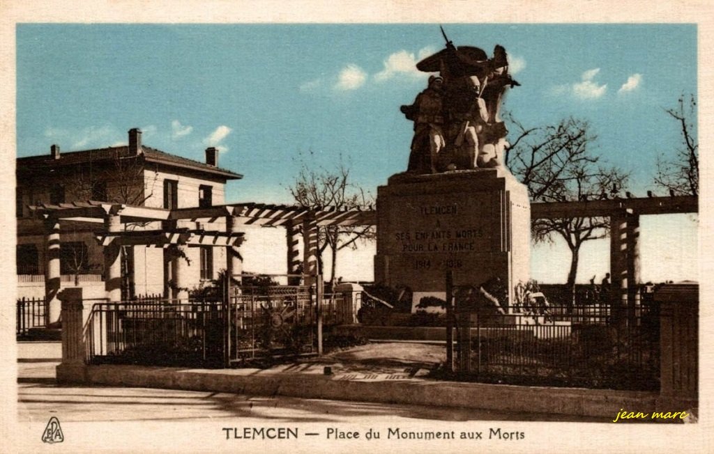
[[[47,269],[51,240],[36,207],[92,201],[164,210],[206,208],[223,205],[226,182],[242,175],[218,167],[216,148],[206,149],[205,162],[189,160],[142,145],[141,131],[132,129],[127,146],[61,153],[59,146],[51,145],[48,155],[18,158],[16,177],[18,296],[42,297],[51,271]],[[97,237],[103,226],[90,221],[78,217],[59,222],[60,288],[79,286],[86,298],[103,298],[106,260]],[[123,222],[121,229],[139,234],[162,228],[192,232],[206,228],[200,220],[167,222],[171,221]],[[225,231],[225,222],[211,222],[210,229]],[[226,253],[225,247],[210,245],[181,248],[183,288],[200,289],[216,279],[226,268]],[[170,255],[156,244],[121,246],[122,299],[171,296],[176,260]]]

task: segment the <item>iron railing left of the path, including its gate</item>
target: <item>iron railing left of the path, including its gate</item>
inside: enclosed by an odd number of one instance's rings
[[[316,353],[315,295],[300,286],[268,290],[241,289],[228,305],[159,295],[98,302],[85,326],[87,361],[218,367]],[[351,323],[353,308],[346,294],[323,295],[323,322]]]

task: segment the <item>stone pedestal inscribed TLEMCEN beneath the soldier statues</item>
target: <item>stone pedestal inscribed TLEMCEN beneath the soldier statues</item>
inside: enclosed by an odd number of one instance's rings
[[[498,277],[509,289],[530,276],[531,205],[508,170],[394,175],[377,195],[375,282],[408,287],[413,306],[454,285]]]

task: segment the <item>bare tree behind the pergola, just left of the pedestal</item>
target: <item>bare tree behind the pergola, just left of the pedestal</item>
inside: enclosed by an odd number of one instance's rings
[[[311,152],[312,154],[312,152]],[[362,210],[373,205],[373,197],[350,181],[350,169],[340,160],[333,169],[313,170],[304,160],[290,190],[296,203],[311,210],[334,207],[341,210]],[[356,249],[358,240],[370,241],[374,229],[370,226],[330,225],[318,227],[318,268],[323,269],[323,253],[329,247],[332,267],[330,282],[334,284],[337,252],[346,247]]]

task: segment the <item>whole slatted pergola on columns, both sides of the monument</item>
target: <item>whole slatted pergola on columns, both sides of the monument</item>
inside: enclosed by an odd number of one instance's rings
[[[122,245],[146,245],[149,247],[172,247],[181,251],[191,245],[226,247],[228,274],[242,270],[238,247],[243,242],[242,225],[285,227],[288,244],[288,274],[298,274],[303,264],[303,274],[317,272],[317,235],[319,226],[329,225],[376,225],[373,210],[344,210],[323,207],[308,210],[291,205],[268,205],[261,203],[235,203],[212,207],[191,207],[166,210],[163,208],[139,207],[108,202],[72,202],[58,205],[41,204],[30,209],[44,220],[46,235],[45,285],[46,301],[55,301],[59,291],[59,225],[62,221],[89,222],[101,225],[96,240],[104,247],[106,297],[109,301],[121,299],[121,263],[119,248]],[[636,284],[640,279],[639,228],[640,215],[665,215],[698,212],[698,197],[643,197],[614,200],[585,200],[579,202],[536,202],[531,204],[531,219],[562,219],[571,217],[610,217],[610,274],[613,286],[621,290],[623,301],[633,304]],[[178,222],[199,222],[211,226],[224,221],[225,231],[218,229],[189,229],[178,227]],[[161,228],[151,229],[154,222]],[[122,225],[141,224],[142,229],[126,231]],[[204,224],[205,223],[205,224]],[[300,259],[299,239],[303,239],[303,254]],[[181,290],[183,261],[174,259],[174,281],[178,290],[174,298],[186,297]],[[56,305],[55,304],[55,305]],[[59,309],[58,309],[59,310]],[[59,311],[57,313],[59,316]]]

